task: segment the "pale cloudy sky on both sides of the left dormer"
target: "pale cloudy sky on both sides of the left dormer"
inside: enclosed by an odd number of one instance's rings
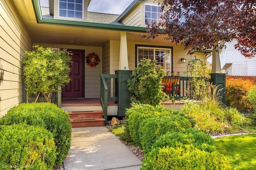
[[[91,0],[88,11],[105,14],[122,14],[134,0]],[[40,5],[49,7],[49,0],[40,0]]]

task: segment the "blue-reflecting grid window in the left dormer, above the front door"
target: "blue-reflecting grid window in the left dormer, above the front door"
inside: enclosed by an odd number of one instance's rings
[[[59,0],[59,17],[83,19],[83,0]]]

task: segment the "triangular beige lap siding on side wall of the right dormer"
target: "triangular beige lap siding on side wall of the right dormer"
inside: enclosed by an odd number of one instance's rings
[[[143,3],[140,3],[140,5],[138,5],[134,10],[132,10],[132,12],[130,12],[128,16],[124,18],[124,20],[122,20],[122,23],[124,25],[130,25],[130,26],[136,26],[136,27],[141,26],[142,24],[141,4]]]

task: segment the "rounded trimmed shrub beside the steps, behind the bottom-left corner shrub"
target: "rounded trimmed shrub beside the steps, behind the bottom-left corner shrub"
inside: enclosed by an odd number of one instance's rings
[[[71,123],[67,111],[51,103],[20,104],[8,110],[0,125],[26,123],[52,132],[57,147],[55,165],[60,165],[68,155],[71,143]]]

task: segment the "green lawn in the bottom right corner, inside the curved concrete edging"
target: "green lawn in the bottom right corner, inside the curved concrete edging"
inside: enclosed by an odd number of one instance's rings
[[[217,150],[230,161],[234,170],[256,170],[256,134],[215,139]]]

